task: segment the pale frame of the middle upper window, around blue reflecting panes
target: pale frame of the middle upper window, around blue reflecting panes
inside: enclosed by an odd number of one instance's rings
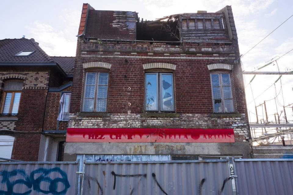
[[[157,80],[157,94],[156,94],[156,103],[157,103],[157,110],[149,110],[147,107],[147,104],[149,101],[148,100],[148,92],[147,92],[147,87],[148,87],[148,83],[147,83],[147,77],[146,75],[151,75],[151,74],[155,74],[156,75],[156,80]],[[172,110],[164,110],[163,108],[163,93],[161,93],[162,88],[163,88],[163,81],[162,81],[162,75],[171,75],[172,78],[172,103],[173,103],[173,108]],[[145,110],[147,112],[175,112],[175,97],[174,97],[174,80],[173,80],[173,73],[163,73],[163,72],[148,72],[145,73],[145,102],[144,102],[144,107]]]

